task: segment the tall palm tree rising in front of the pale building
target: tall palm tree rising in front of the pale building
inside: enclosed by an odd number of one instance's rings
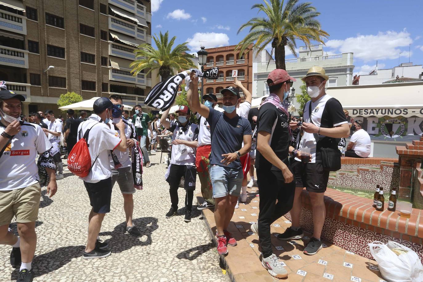
[[[257,52],[261,52],[266,46],[272,44],[272,54],[275,50],[276,68],[285,69],[285,46],[297,57],[295,40],[301,40],[306,45],[310,41],[324,43],[323,39],[329,34],[321,30],[320,22],[316,19],[320,15],[311,3],[300,3],[299,0],[288,0],[284,6],[284,1],[270,0],[268,3],[255,4],[252,9],[258,8],[267,17],[254,17],[239,27],[238,33],[246,27],[250,27],[250,32],[236,46],[241,49],[241,53],[254,44]],[[269,60],[270,62],[270,60]],[[269,64],[269,63],[268,63]]]

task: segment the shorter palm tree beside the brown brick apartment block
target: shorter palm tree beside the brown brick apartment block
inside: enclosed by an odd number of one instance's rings
[[[189,68],[195,68],[194,62],[191,60],[193,55],[186,53],[188,49],[188,42],[176,45],[176,36],[173,36],[169,41],[169,32],[157,36],[154,34],[154,42],[156,42],[157,49],[154,49],[150,44],[141,44],[135,50],[136,60],[133,61],[129,66],[132,68],[132,72],[137,75],[144,69],[149,69],[147,74],[154,69],[159,69],[159,75],[162,79],[166,79],[174,74],[174,70],[184,70]]]

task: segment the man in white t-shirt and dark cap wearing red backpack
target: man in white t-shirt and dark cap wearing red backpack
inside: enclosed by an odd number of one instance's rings
[[[110,99],[106,97],[97,99],[93,104],[94,113],[78,127],[77,139],[85,138],[91,156],[91,170],[87,176],[80,177],[84,181],[92,206],[88,217],[87,246],[82,255],[85,259],[107,257],[111,254],[105,250],[108,244],[101,242],[98,237],[104,215],[110,212],[112,197],[112,170],[108,152],[115,149],[125,152],[127,148],[124,122],[120,120],[115,125],[119,130],[119,136],[107,125],[112,118],[112,109],[113,103]],[[72,153],[69,154],[69,161],[73,157]]]

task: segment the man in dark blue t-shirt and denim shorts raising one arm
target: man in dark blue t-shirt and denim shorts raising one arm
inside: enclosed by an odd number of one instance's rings
[[[213,198],[216,201],[214,219],[216,222],[217,252],[228,253],[226,245],[236,246],[236,240],[226,228],[231,221],[244,177],[239,158],[251,149],[251,126],[247,119],[236,114],[236,106],[241,97],[236,88],[230,86],[220,91],[223,95],[223,110],[217,110],[200,104],[192,91],[198,89],[198,77],[191,74],[190,90],[187,100],[193,112],[207,118],[211,130],[210,178],[213,186]],[[244,145],[242,145],[244,142]]]

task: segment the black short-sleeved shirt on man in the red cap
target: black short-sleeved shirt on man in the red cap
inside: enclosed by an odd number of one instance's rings
[[[270,148],[276,156],[288,165],[289,154],[289,129],[288,116],[279,108],[271,103],[264,103],[260,107],[257,118],[257,132],[264,131],[270,133]],[[258,170],[277,170],[260,151],[257,150],[255,159],[255,168]]]

